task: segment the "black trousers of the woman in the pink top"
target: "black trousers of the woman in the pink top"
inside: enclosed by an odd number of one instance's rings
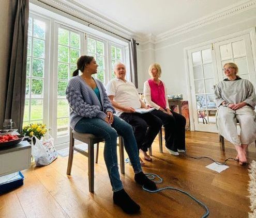
[[[161,110],[153,110],[151,113],[160,118],[163,123],[165,146],[174,152],[177,152],[177,149],[185,150],[186,118],[173,111],[173,115]]]

